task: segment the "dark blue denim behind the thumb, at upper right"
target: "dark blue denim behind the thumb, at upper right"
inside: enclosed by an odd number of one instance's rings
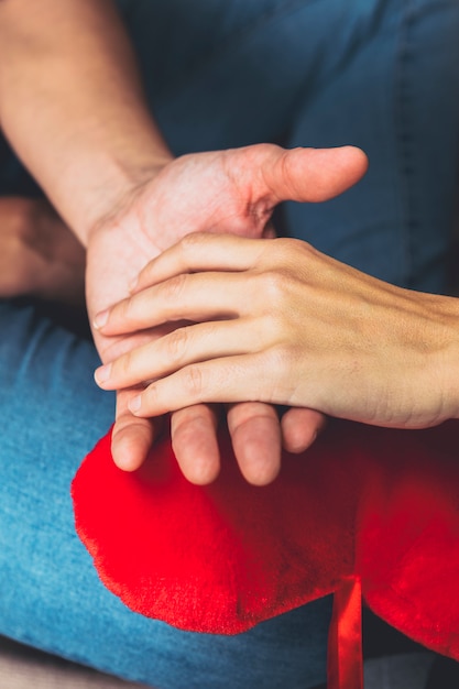
[[[284,230],[389,282],[445,289],[459,162],[456,0],[208,1],[193,11],[173,0],[150,42],[152,2],[127,4],[176,153],[361,146],[365,178],[327,204],[287,204]]]

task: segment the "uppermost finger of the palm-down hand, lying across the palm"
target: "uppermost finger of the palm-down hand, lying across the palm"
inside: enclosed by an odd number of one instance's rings
[[[263,252],[264,247],[259,239],[193,232],[147,263],[135,285],[131,286],[131,293],[181,273],[247,271],[253,267]]]

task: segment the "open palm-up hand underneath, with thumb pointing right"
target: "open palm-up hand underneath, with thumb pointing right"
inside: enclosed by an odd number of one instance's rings
[[[140,270],[182,237],[196,231],[251,238],[272,234],[271,214],[281,200],[330,198],[354,184],[365,166],[365,156],[352,147],[285,151],[270,144],[187,155],[167,163],[150,182],[134,188],[90,234],[90,318],[128,296]],[[96,330],[95,341],[107,362],[159,335],[124,332],[113,338]],[[113,429],[114,461],[129,470],[142,463],[155,433],[146,416],[140,418],[129,411],[128,402],[135,395],[135,390],[118,394]],[[204,405],[187,406],[177,409],[171,423],[174,450],[185,475],[198,483],[212,480],[218,472],[214,412]],[[306,447],[321,424],[315,412],[292,409],[283,426],[287,447]],[[228,413],[228,425],[245,477],[255,483],[272,480],[281,455],[275,411],[260,403],[236,405]]]

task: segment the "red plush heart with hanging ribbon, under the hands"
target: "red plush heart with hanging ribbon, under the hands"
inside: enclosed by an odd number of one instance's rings
[[[236,634],[335,593],[330,689],[362,686],[360,605],[459,659],[459,423],[428,430],[331,423],[249,485],[222,435],[211,485],[182,475],[168,439],[134,473],[108,434],[73,482],[77,532],[103,583],[183,630]]]

